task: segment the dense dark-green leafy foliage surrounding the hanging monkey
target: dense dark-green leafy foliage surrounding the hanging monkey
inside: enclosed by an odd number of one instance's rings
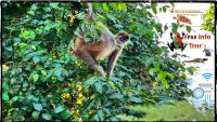
[[[139,9],[144,8],[144,9]],[[2,3],[3,114],[7,120],[117,120],[138,114],[129,105],[163,105],[190,95],[192,68],[167,57],[157,39],[168,29],[155,18],[169,5],[94,3],[98,21],[130,41],[114,77],[101,78],[71,54],[75,36],[95,40],[94,23],[85,21],[86,3]],[[171,24],[173,32],[179,26]],[[100,63],[106,68],[107,59]]]

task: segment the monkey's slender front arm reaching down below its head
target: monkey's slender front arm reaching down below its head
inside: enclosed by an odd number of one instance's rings
[[[119,55],[122,54],[122,51],[123,51],[123,49],[115,50],[115,51],[111,54],[111,56],[110,56],[110,58],[108,58],[108,64],[107,64],[107,74],[108,74],[108,77],[112,76],[113,69],[114,69],[114,67],[115,67],[115,64],[116,64],[116,62],[117,62]]]

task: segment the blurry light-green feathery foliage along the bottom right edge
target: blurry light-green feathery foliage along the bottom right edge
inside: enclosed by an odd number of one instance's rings
[[[122,114],[118,118],[127,121],[214,121],[214,109],[201,112],[187,101],[162,106],[131,106],[128,109],[138,111],[142,117]]]

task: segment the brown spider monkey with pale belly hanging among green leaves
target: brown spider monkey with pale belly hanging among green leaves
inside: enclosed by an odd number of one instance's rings
[[[89,19],[93,18],[92,4],[88,3]],[[101,38],[95,42],[86,42],[85,37],[77,37],[75,41],[73,54],[84,60],[88,66],[94,69],[101,77],[105,77],[103,68],[98,64],[98,60],[102,60],[108,56],[106,73],[111,78],[114,66],[122,54],[124,44],[129,40],[129,33],[119,32],[113,35],[108,28],[102,23],[97,23],[103,26],[100,30]]]

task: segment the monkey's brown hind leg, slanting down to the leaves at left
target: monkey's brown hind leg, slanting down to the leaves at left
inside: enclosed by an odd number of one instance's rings
[[[98,65],[95,59],[87,52],[80,53],[79,56],[88,66],[90,66],[92,69],[94,69],[98,73],[100,73],[101,77],[105,77],[105,72],[103,68]]]

